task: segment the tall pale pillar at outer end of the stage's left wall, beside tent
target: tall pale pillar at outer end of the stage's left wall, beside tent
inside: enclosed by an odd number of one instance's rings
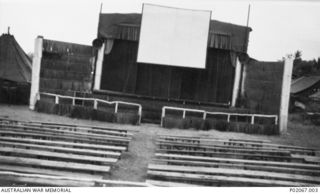
[[[35,104],[37,102],[37,95],[39,93],[42,45],[43,45],[43,37],[38,36],[35,39],[34,53],[33,53],[33,59],[32,59],[31,91],[30,91],[30,100],[29,100],[29,108],[31,110],[34,110],[35,108]]]

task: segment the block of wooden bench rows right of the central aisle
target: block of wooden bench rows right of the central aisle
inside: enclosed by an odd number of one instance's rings
[[[147,183],[157,186],[314,186],[315,149],[265,140],[159,135]]]

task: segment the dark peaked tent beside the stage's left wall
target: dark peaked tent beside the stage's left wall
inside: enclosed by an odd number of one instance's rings
[[[14,36],[0,37],[0,102],[27,104],[30,94],[31,60]]]

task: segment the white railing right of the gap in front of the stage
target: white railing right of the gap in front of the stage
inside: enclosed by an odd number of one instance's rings
[[[255,123],[255,118],[257,117],[263,117],[263,118],[274,118],[274,124],[278,124],[278,115],[265,115],[265,114],[246,114],[246,113],[228,113],[228,112],[208,112],[205,110],[199,110],[199,109],[189,109],[189,108],[179,108],[179,107],[170,107],[170,106],[164,106],[162,107],[162,114],[161,114],[161,126],[163,127],[163,119],[166,116],[166,110],[175,110],[175,111],[182,111],[182,118],[184,119],[186,117],[186,112],[197,112],[202,113],[202,118],[205,120],[207,118],[207,115],[225,115],[227,116],[227,122],[230,122],[231,116],[246,116],[250,117],[250,123]]]

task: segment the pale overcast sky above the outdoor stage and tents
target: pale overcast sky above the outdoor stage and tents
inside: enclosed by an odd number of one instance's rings
[[[251,5],[248,54],[276,61],[297,50],[302,58],[320,57],[320,1],[214,0],[0,0],[0,34],[10,33],[26,53],[34,39],[91,45],[96,38],[100,5],[103,13],[141,13],[142,3],[211,10],[212,19],[247,24]]]

